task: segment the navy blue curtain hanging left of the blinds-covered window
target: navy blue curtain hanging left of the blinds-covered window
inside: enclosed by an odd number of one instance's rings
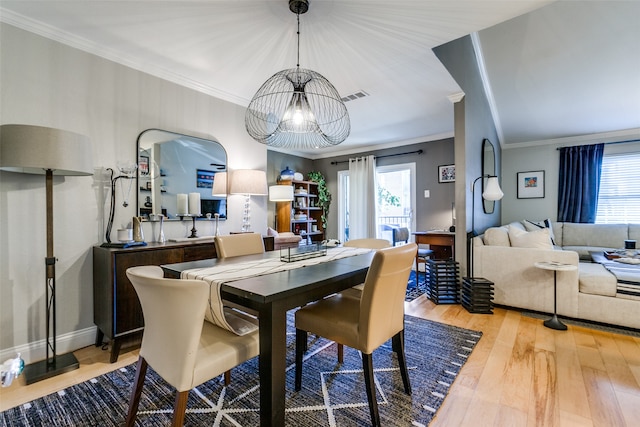
[[[558,221],[596,221],[604,144],[560,149]]]

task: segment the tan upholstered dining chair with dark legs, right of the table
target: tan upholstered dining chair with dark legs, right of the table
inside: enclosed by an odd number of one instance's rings
[[[416,250],[415,243],[378,250],[359,299],[336,294],[296,312],[296,390],[302,385],[302,357],[310,332],[362,353],[369,412],[374,426],[380,425],[380,416],[372,353],[390,338],[398,356],[404,390],[411,394],[404,355],[404,297]]]

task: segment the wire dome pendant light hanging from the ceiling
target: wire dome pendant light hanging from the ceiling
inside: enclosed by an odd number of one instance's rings
[[[309,9],[308,0],[289,0],[289,9],[298,20],[296,68],[277,72],[258,89],[247,107],[247,132],[270,147],[338,145],[351,131],[347,107],[329,80],[300,68],[300,14]]]

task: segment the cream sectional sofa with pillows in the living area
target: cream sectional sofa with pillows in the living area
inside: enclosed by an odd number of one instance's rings
[[[616,276],[590,254],[640,242],[640,224],[536,223],[489,228],[473,239],[474,276],[494,283],[494,303],[552,313],[553,272],[534,263],[556,261],[578,267],[557,273],[559,315],[640,329],[640,298],[621,294]]]

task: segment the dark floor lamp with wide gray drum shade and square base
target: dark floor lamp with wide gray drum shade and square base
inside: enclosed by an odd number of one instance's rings
[[[47,215],[46,359],[25,366],[27,384],[77,369],[73,353],[56,352],[56,258],[53,254],[53,175],[93,175],[89,138],[73,132],[30,125],[0,126],[0,169],[45,175]]]

